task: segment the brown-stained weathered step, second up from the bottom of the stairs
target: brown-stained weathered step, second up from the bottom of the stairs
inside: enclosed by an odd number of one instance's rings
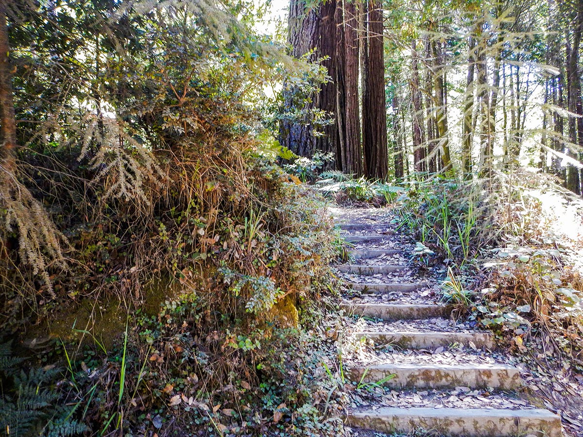
[[[364,376],[363,376],[364,375]],[[505,364],[382,364],[350,369],[350,378],[357,382],[379,382],[390,375],[383,385],[404,389],[441,389],[445,387],[492,387],[514,390],[521,385],[517,368]]]

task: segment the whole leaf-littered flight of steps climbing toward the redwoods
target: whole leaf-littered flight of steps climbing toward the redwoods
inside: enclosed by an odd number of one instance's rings
[[[331,213],[353,245],[337,266],[350,285],[345,341],[356,345],[343,364],[359,386],[349,394],[349,435],[562,435],[559,415],[522,390],[521,367],[496,352],[493,335],[440,303],[438,274],[416,269],[415,241],[387,212]]]

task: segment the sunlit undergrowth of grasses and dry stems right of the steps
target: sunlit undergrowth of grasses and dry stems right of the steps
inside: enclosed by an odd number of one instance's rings
[[[583,369],[581,200],[528,171],[413,184],[396,204],[456,317],[492,329],[515,353]]]

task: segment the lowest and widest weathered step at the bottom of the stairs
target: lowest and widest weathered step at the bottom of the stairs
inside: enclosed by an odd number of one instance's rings
[[[486,408],[392,408],[354,411],[351,427],[387,434],[409,434],[419,429],[448,436],[510,437],[516,435],[561,436],[561,418],[548,410],[497,410]]]

